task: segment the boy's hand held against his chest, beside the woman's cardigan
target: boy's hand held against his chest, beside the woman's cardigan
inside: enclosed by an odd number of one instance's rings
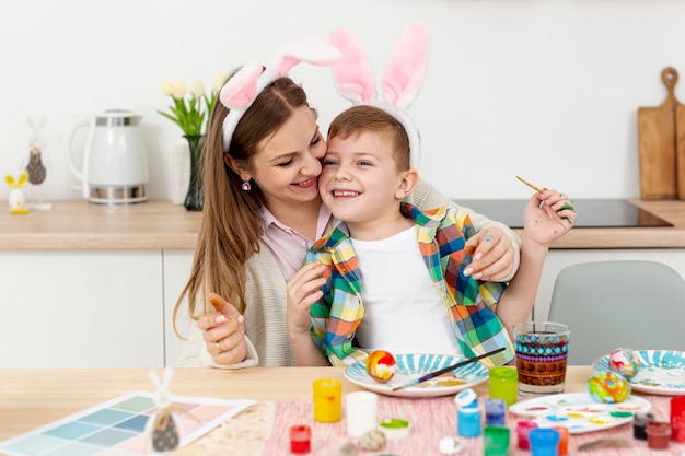
[[[291,339],[310,330],[310,307],[323,297],[318,290],[326,283],[322,273],[326,269],[321,261],[313,261],[303,266],[288,282],[288,308],[286,325]]]

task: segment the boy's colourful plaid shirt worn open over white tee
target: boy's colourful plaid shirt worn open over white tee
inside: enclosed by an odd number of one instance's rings
[[[427,212],[402,203],[402,213],[414,218],[419,249],[442,301],[450,311],[452,328],[462,353],[474,358],[500,347],[501,353],[486,358],[490,365],[513,360],[514,351],[501,320],[488,307],[499,300],[503,283],[480,282],[463,274],[471,262],[464,252],[475,234],[465,212],[442,207]],[[320,260],[327,268],[324,296],[311,307],[310,331],[318,348],[334,365],[363,361],[367,353],[352,347],[355,332],[364,315],[361,302],[359,264],[349,232],[339,223],[307,252],[305,264]]]

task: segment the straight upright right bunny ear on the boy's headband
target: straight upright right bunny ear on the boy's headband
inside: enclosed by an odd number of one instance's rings
[[[428,58],[428,28],[414,22],[403,33],[383,73],[383,97],[399,109],[407,109],[416,100]]]

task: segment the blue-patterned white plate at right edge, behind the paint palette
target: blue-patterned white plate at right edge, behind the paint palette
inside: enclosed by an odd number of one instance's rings
[[[685,352],[671,350],[636,350],[640,370],[628,381],[640,393],[663,396],[685,396]],[[608,371],[608,354],[597,358],[595,371]]]

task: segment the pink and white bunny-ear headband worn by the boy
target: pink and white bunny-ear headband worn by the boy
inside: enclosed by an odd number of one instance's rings
[[[414,22],[404,31],[381,80],[382,97],[376,98],[375,79],[364,51],[346,28],[330,33],[342,59],[333,67],[336,89],[353,105],[371,105],[395,117],[409,138],[411,167],[418,169],[421,160],[419,131],[407,108],[414,103],[423,82],[428,59],[428,30]]]

